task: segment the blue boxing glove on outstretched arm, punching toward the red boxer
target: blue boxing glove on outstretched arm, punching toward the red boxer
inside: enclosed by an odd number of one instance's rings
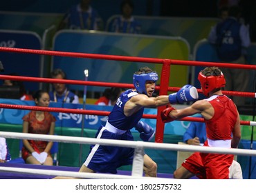
[[[169,95],[169,102],[174,103],[185,103],[198,99],[198,92],[192,85],[184,85],[178,92]]]

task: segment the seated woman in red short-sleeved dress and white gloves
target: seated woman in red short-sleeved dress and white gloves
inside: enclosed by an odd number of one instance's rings
[[[35,105],[48,107],[48,92],[38,90],[33,94]],[[54,134],[55,117],[50,112],[32,110],[23,118],[23,132],[33,134]],[[53,165],[51,148],[53,141],[23,140],[22,158],[26,163],[37,165]]]

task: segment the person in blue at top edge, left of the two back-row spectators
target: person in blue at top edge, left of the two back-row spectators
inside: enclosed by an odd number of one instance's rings
[[[60,23],[59,30],[104,30],[102,18],[90,3],[91,0],[80,0],[80,3],[72,6]]]

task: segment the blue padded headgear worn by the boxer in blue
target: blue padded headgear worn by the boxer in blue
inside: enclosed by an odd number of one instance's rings
[[[158,74],[156,72],[150,72],[147,74],[134,74],[134,87],[136,90],[142,94],[147,94],[146,81],[156,81],[158,80]]]

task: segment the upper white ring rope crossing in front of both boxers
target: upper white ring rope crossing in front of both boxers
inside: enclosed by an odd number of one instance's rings
[[[28,134],[19,132],[0,132],[0,136],[11,139],[34,139],[42,141],[57,141],[62,143],[80,143],[80,144],[100,144],[129,148],[149,148],[160,150],[177,150],[185,152],[208,152],[219,154],[237,154],[242,156],[256,156],[256,150],[245,150],[235,148],[215,148],[215,147],[203,147],[197,145],[179,145],[171,143],[152,143],[144,141],[123,141],[113,139],[95,139],[79,136],[57,136],[48,134]]]

